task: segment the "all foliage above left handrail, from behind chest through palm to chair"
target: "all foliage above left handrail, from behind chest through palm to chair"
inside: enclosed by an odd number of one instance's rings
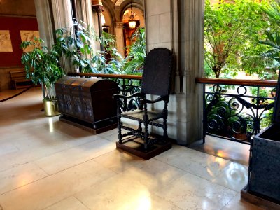
[[[144,29],[137,29],[132,37],[136,41],[129,47],[130,54],[125,59],[116,49],[116,36],[103,32],[99,38],[92,27],[83,25],[83,22],[74,22],[74,27],[78,28],[76,36],[73,36],[73,29],[56,31],[57,50],[72,59],[81,72],[135,74],[143,67],[146,55]],[[92,44],[96,42],[104,45],[105,51],[94,50]]]

